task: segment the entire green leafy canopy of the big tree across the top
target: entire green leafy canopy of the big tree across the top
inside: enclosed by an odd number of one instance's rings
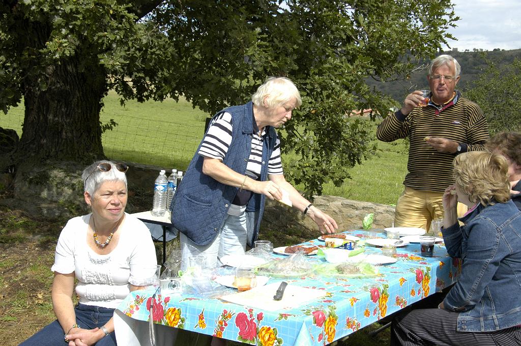
[[[59,103],[48,91],[49,76],[71,62],[70,75],[58,76],[64,83],[78,73],[102,71],[91,78],[102,79],[102,94],[114,89],[121,103],[184,96],[208,113],[249,101],[267,76],[288,76],[304,103],[281,131],[282,148],[298,156],[286,167],[287,176],[303,183],[307,195],[320,194],[322,184],[340,186],[349,178],[348,168],[375,151],[371,126],[351,117],[352,111],[372,108],[374,118],[396,105],[366,80],[407,76],[420,58],[432,57],[452,38],[446,30],[458,18],[450,0],[288,0],[284,5],[280,0],[3,2],[0,108],[5,112],[18,104],[24,88],[39,89],[49,102]],[[52,114],[48,117],[50,122]]]

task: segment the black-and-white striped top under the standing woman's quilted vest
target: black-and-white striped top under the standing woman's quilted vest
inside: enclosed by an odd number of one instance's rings
[[[262,149],[265,133],[264,129],[260,137],[257,133],[253,133],[252,150],[246,165],[246,173],[257,178],[261,175]],[[199,150],[199,155],[221,160],[224,159],[231,143],[231,136],[231,114],[224,112],[216,115],[212,119],[212,122],[210,122],[210,127],[204,137],[203,144]],[[268,162],[268,175],[281,174],[283,174],[283,170],[282,162],[280,160],[280,140],[277,137],[275,149],[273,150]]]

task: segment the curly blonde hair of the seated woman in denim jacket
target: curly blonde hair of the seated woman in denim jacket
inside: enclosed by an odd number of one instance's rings
[[[503,155],[468,152],[454,158],[454,179],[470,202],[490,205],[510,200],[508,163]]]

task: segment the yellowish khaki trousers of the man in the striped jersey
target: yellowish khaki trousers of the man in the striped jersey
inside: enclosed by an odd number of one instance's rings
[[[427,231],[434,219],[443,219],[443,192],[415,190],[405,187],[396,202],[394,227],[418,227]],[[457,215],[462,217],[467,206],[457,204]]]

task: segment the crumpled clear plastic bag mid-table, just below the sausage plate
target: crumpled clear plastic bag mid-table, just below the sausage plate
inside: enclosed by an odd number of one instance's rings
[[[295,277],[311,273],[312,264],[307,261],[304,252],[299,251],[281,260],[270,262],[257,267],[258,275],[274,277]]]

